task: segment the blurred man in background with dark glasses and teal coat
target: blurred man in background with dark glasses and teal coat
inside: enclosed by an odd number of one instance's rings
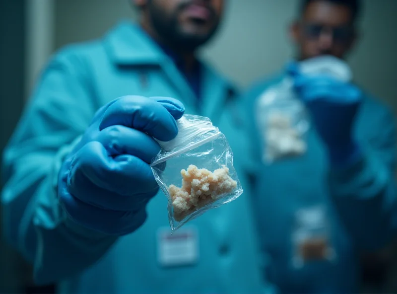
[[[312,57],[346,57],[359,10],[358,0],[303,0],[290,30],[296,60],[246,95],[257,163],[251,166],[254,207],[261,249],[269,255],[265,272],[281,293],[357,292],[358,253],[390,237],[396,208],[391,111],[351,82],[299,72],[299,62]],[[258,101],[287,75],[311,117],[307,150],[260,163],[266,139]]]

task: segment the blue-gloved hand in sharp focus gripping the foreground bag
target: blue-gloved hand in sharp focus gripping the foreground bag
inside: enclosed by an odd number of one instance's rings
[[[142,225],[159,189],[149,165],[160,151],[153,138],[174,139],[184,111],[175,99],[140,96],[100,108],[59,173],[59,200],[70,219],[112,235]]]

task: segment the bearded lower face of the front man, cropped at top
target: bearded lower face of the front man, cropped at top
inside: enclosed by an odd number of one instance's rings
[[[194,50],[218,28],[223,0],[146,0],[144,13],[155,32],[173,47]]]

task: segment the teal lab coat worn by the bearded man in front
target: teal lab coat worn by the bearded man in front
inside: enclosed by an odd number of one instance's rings
[[[55,282],[69,294],[264,293],[247,193],[186,224],[198,231],[199,256],[184,267],[158,260],[158,229],[170,231],[162,192],[148,204],[147,221],[119,238],[71,223],[58,203],[63,158],[96,110],[125,95],[174,97],[187,114],[211,118],[228,138],[239,173],[247,148],[234,88],[205,64],[201,84],[198,103],[174,61],[129,22],[52,57],[3,157],[5,235],[33,263],[37,283]]]

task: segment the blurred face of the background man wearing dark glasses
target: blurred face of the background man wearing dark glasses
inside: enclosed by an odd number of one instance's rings
[[[320,55],[345,58],[355,40],[349,7],[327,0],[310,3],[291,29],[301,60]]]

